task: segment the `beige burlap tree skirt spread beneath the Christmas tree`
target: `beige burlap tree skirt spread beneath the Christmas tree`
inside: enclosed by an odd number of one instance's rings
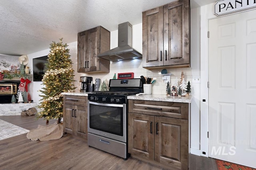
[[[63,135],[63,125],[61,123],[53,125],[38,125],[36,129],[32,129],[28,134],[27,138],[32,141],[49,141],[54,139],[60,139]]]

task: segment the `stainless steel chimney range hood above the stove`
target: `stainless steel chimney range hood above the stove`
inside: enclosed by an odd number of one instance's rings
[[[97,57],[110,61],[141,58],[142,54],[132,48],[132,25],[129,22],[120,23],[118,25],[118,47],[101,53]]]

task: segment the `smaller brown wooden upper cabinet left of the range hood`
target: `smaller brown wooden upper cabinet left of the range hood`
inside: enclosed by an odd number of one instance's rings
[[[77,72],[109,72],[110,61],[97,57],[110,49],[110,31],[98,26],[78,33]]]

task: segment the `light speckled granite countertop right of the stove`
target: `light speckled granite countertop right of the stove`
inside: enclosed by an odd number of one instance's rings
[[[160,102],[178,102],[178,103],[191,103],[192,96],[167,96],[165,94],[145,94],[140,96],[127,96],[127,99],[132,100],[150,100],[150,101],[160,101]]]

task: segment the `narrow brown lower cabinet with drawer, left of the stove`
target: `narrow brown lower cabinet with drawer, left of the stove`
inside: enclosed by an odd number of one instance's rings
[[[87,97],[64,96],[63,129],[87,139]]]

